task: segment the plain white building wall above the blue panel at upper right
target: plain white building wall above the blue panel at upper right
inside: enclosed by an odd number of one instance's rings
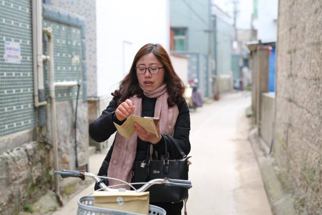
[[[277,40],[278,0],[258,1],[257,39],[262,41]]]

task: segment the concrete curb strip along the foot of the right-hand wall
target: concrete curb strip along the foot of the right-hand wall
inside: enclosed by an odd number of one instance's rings
[[[268,149],[262,144],[258,136],[257,128],[250,132],[249,140],[259,165],[266,194],[274,215],[297,214],[294,208],[294,201],[290,193],[286,193],[279,181],[273,163],[275,159],[268,155]]]

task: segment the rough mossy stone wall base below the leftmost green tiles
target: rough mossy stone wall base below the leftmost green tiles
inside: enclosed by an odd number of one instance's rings
[[[51,147],[28,142],[0,154],[0,214],[16,214],[43,195],[52,181]]]

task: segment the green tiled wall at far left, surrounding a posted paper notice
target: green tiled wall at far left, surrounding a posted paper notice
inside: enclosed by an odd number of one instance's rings
[[[31,11],[31,1],[0,1],[0,136],[35,127]],[[5,62],[6,41],[20,43],[20,64]]]

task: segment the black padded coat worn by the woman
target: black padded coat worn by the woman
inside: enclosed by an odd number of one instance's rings
[[[142,98],[142,114],[141,116],[154,116],[154,106],[155,106],[156,99],[147,98],[143,96]],[[90,124],[89,132],[91,137],[98,142],[103,142],[107,140],[115,131],[116,127],[113,122],[117,124],[122,124],[124,121],[119,121],[115,116],[115,110],[117,108],[117,104],[114,100],[110,102],[108,107],[102,112],[102,115],[96,119],[94,122]],[[175,125],[174,130],[174,138],[177,139],[181,149],[184,151],[186,155],[190,152],[190,141],[189,141],[189,132],[190,132],[190,114],[189,108],[186,102],[178,105],[179,115],[177,118],[177,122]],[[161,134],[164,136],[165,134]],[[115,142],[115,139],[114,139]],[[113,145],[109,150],[105,161],[107,163],[110,162],[112,152],[113,152]],[[181,155],[176,148],[173,142],[168,142],[168,151],[170,154],[170,159],[179,159]],[[142,161],[145,159],[146,152],[147,152],[148,142],[141,140],[139,137],[137,138],[137,153],[135,161]],[[165,153],[165,139],[162,139],[155,145],[153,145],[153,149],[156,150],[160,154]],[[106,163],[105,162],[105,163]]]

